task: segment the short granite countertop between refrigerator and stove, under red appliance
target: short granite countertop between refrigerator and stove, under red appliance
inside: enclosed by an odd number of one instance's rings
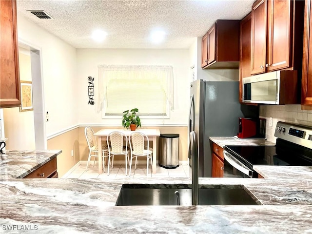
[[[209,139],[222,148],[225,145],[275,145],[274,142],[265,139],[239,139],[236,137],[209,137]]]

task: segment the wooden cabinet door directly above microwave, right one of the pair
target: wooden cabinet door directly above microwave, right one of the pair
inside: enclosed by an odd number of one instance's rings
[[[290,67],[291,59],[291,0],[268,1],[268,71]]]

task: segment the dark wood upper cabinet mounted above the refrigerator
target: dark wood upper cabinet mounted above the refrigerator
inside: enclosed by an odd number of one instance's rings
[[[238,69],[240,20],[216,20],[202,38],[203,69]]]

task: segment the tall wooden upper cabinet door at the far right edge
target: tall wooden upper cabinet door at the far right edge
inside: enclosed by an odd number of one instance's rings
[[[312,11],[311,0],[305,1],[301,104],[312,105]]]

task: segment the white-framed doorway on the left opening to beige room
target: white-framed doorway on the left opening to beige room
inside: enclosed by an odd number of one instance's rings
[[[19,40],[19,60],[20,80],[32,84],[33,110],[1,109],[3,121],[0,129],[8,138],[7,148],[10,150],[46,150],[41,49]]]

